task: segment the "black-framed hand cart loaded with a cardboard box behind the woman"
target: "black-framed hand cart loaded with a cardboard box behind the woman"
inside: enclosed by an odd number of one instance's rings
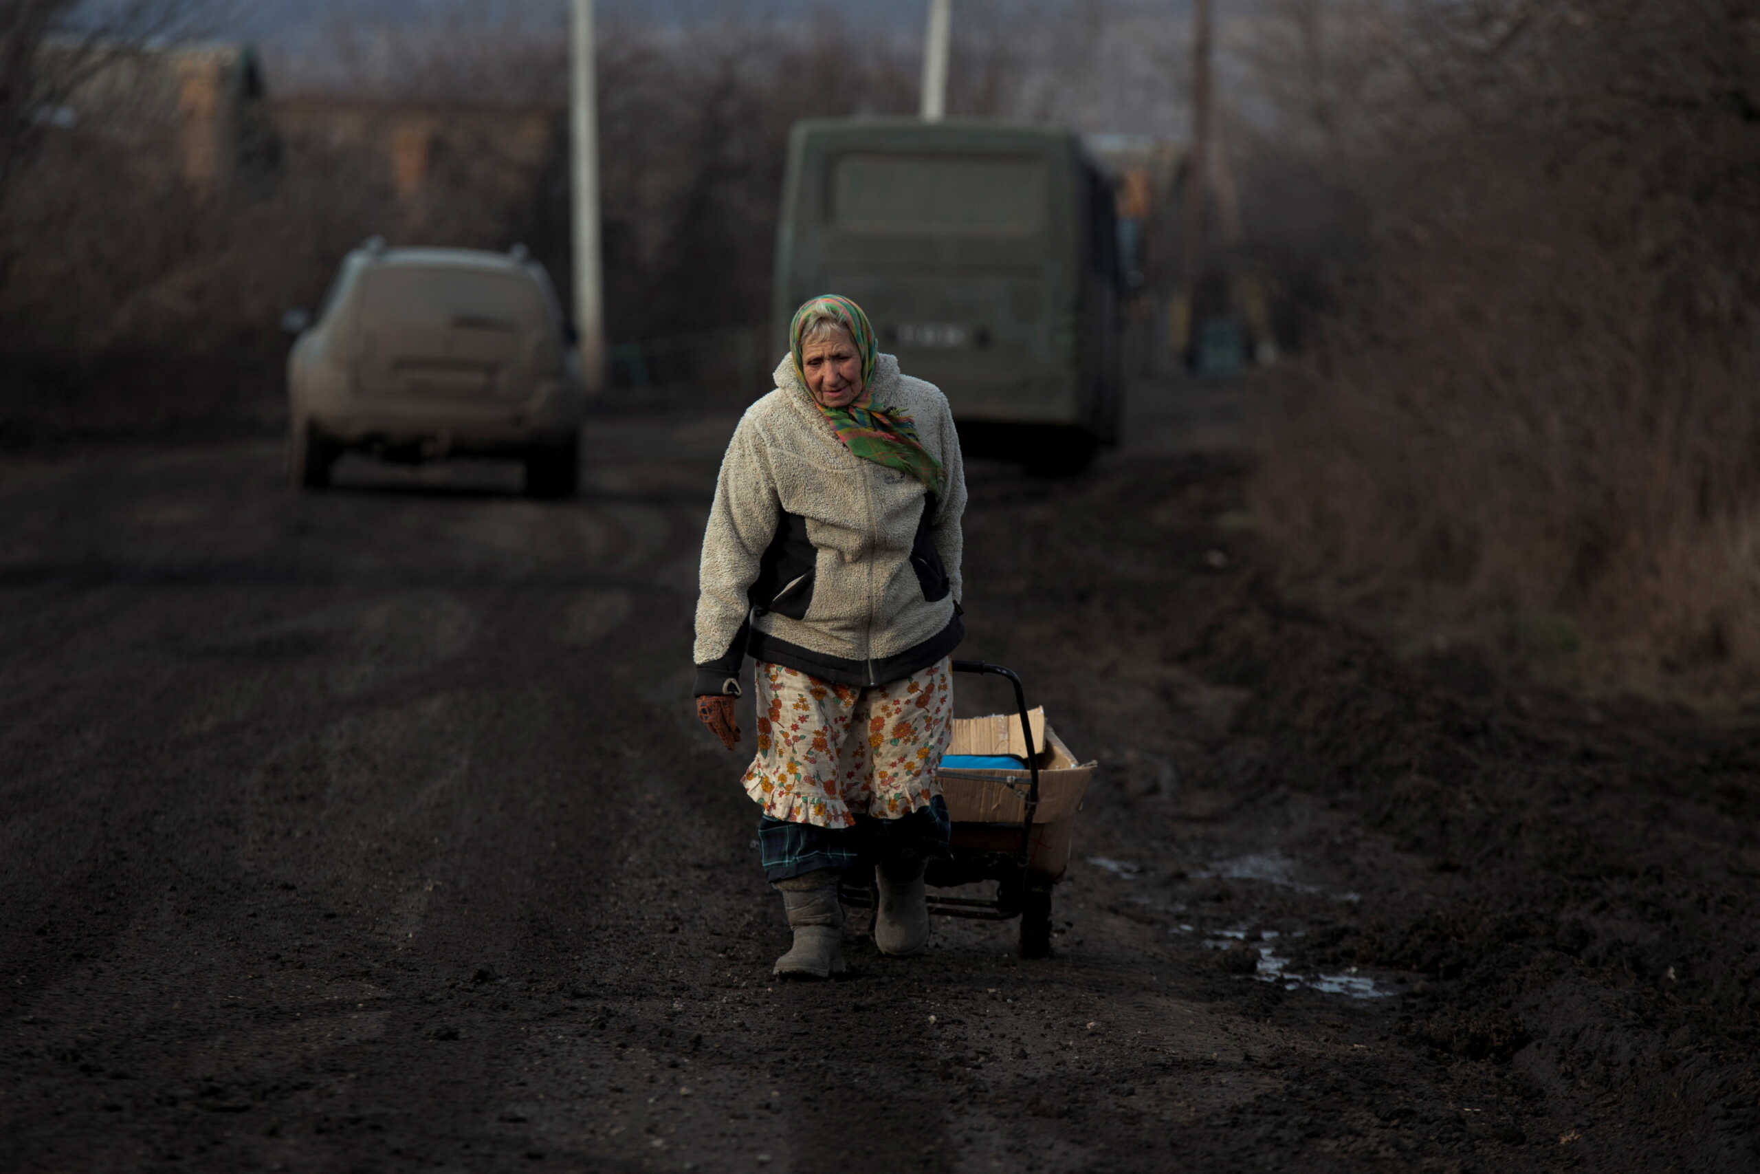
[[[1068,746],[1026,708],[1021,678],[982,660],[956,660],[954,672],[1000,676],[1014,686],[1016,713],[956,718],[954,745],[998,755],[1001,766],[936,769],[952,818],[949,854],[929,862],[936,889],[996,882],[993,898],[929,894],[929,912],[979,921],[1021,919],[1021,958],[1051,952],[1051,891],[1070,862],[1070,833],[1093,762],[1077,762]],[[1017,730],[1008,725],[1017,722]],[[1019,739],[1016,739],[1019,734]],[[871,906],[871,882],[845,882],[845,905]]]

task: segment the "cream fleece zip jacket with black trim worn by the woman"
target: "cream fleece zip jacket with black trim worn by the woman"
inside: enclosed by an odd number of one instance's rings
[[[910,415],[942,463],[942,495],[852,454],[783,356],[776,389],[746,408],[722,459],[702,537],[697,695],[737,695],[748,651],[836,685],[884,685],[964,634],[966,477],[947,396],[889,354],[869,394]]]

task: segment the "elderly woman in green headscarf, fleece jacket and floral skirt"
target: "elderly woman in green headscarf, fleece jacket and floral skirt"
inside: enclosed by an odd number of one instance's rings
[[[928,945],[964,507],[947,398],[875,352],[854,301],[803,305],[776,389],[722,461],[693,653],[697,716],[729,750],[741,662],[757,660],[759,745],[741,781],[794,929],[778,975],[843,970],[838,878],[859,861],[875,861],[880,950]]]

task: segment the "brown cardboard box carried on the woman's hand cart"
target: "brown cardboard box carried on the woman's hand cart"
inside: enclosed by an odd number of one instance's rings
[[[1045,723],[1044,708],[1028,711],[1033,755],[1038,762],[1038,808],[1033,811],[1028,869],[1044,880],[1060,880],[1070,866],[1070,833],[1082,810],[1095,764],[1077,762],[1063,739]],[[1026,757],[1019,713],[984,718],[954,718],[947,753]],[[1021,820],[1033,776],[1023,767],[940,769],[935,773],[954,822],[956,852],[1019,852]]]

